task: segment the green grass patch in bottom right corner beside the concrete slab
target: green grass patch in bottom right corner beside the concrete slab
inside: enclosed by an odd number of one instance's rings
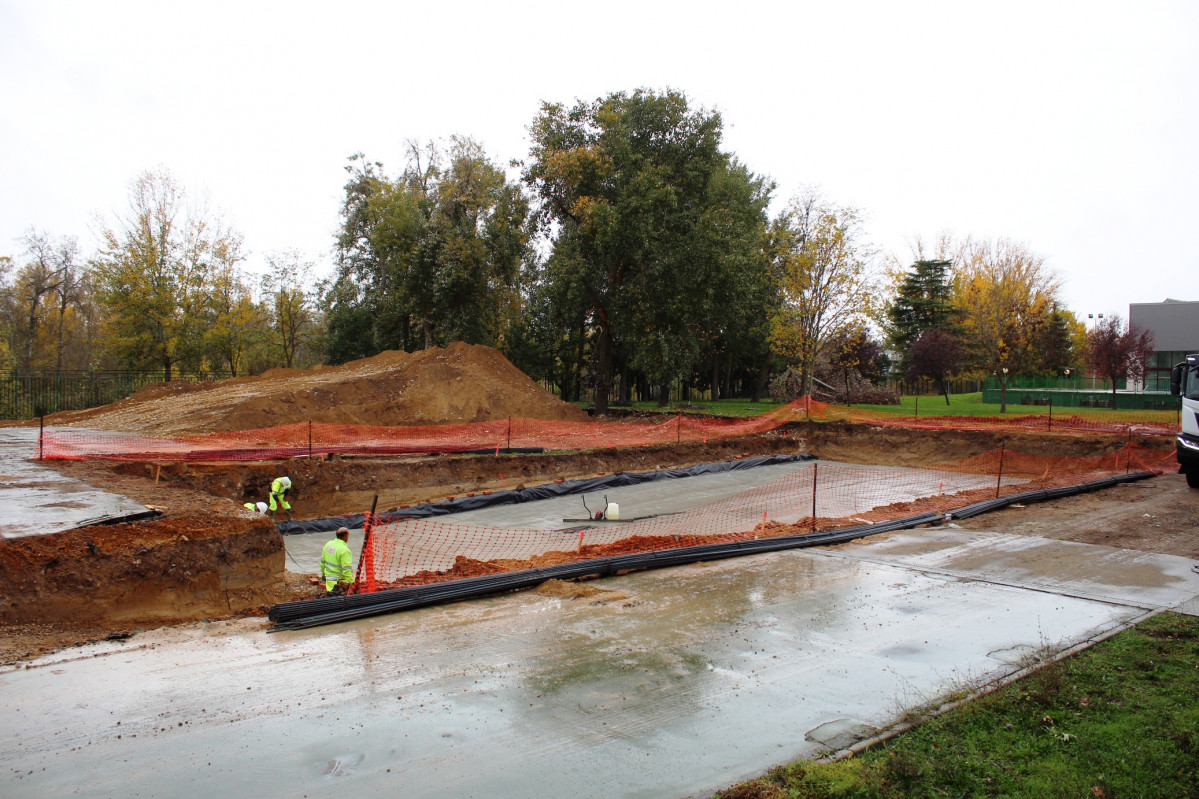
[[[721,799],[1199,797],[1199,619],[1158,614],[857,757]]]

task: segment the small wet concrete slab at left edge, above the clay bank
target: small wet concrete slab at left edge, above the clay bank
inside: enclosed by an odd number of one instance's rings
[[[149,510],[37,463],[37,428],[0,428],[0,536],[43,535]]]

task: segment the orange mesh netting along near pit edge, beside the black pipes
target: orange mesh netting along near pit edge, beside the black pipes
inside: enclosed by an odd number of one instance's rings
[[[627,523],[589,522],[555,530],[490,528],[436,518],[373,523],[356,590],[873,524],[1128,471],[1161,474],[1176,468],[1173,453],[1163,456],[1134,445],[1097,457],[1044,457],[1000,449],[924,469],[815,462],[728,499]]]

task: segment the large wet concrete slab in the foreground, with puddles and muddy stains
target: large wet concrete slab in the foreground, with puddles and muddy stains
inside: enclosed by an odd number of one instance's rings
[[[894,563],[793,551],[594,581],[603,602],[66,650],[0,672],[0,793],[706,795],[1144,614],[900,563],[924,533],[886,539]]]

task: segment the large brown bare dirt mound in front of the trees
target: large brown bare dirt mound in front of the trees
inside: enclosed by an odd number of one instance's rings
[[[62,411],[46,421],[173,435],[307,421],[438,425],[508,416],[586,419],[585,411],[554,397],[498,350],[456,342],[445,349],[388,350],[342,366],[158,384],[110,405]]]

